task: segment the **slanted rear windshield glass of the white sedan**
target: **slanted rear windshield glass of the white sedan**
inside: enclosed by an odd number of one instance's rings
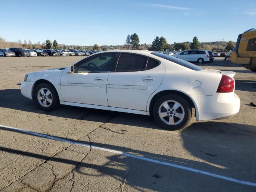
[[[184,66],[186,68],[192,69],[194,71],[202,71],[202,70],[204,70],[204,68],[201,68],[201,67],[199,67],[199,66],[197,66],[195,64],[192,64],[190,62],[187,62],[185,60],[176,58],[174,56],[170,56],[170,55],[166,55],[166,54],[161,54],[161,53],[158,53],[158,52],[152,52],[151,54],[155,55],[155,56],[158,56],[160,58],[166,59],[168,61],[174,62],[176,64],[179,64],[179,65]]]

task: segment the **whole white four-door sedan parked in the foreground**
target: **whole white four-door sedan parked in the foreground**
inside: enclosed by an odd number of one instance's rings
[[[190,122],[192,108],[196,120],[236,114],[234,75],[159,52],[106,51],[26,74],[21,93],[46,111],[64,104],[152,115],[162,128],[176,130]]]

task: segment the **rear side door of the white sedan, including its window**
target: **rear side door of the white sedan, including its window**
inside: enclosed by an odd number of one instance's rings
[[[158,89],[164,74],[165,67],[158,60],[120,53],[115,70],[108,76],[108,105],[146,111],[148,98]]]

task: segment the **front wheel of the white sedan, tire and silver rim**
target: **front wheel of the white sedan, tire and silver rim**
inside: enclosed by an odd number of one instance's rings
[[[51,111],[60,106],[58,93],[52,85],[47,83],[41,83],[36,87],[34,101],[40,109],[45,111]]]

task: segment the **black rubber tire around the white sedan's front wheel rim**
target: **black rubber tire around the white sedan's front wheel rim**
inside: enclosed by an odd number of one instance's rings
[[[39,92],[39,90],[40,90],[41,88],[46,88],[46,89],[48,89],[48,90],[51,92],[51,94],[52,94],[52,103],[51,103],[50,106],[48,106],[48,107],[42,106],[42,105],[39,103],[38,99],[37,99],[37,94],[38,94],[38,92]],[[44,111],[52,111],[52,110],[54,110],[54,109],[56,109],[56,108],[58,108],[58,107],[60,106],[60,100],[59,100],[58,93],[56,92],[55,88],[54,88],[51,84],[47,84],[47,83],[41,83],[41,84],[39,84],[38,86],[36,86],[36,88],[35,88],[33,94],[34,94],[34,101],[36,102],[36,105],[37,105],[40,109],[42,109],[42,110],[44,110]]]

